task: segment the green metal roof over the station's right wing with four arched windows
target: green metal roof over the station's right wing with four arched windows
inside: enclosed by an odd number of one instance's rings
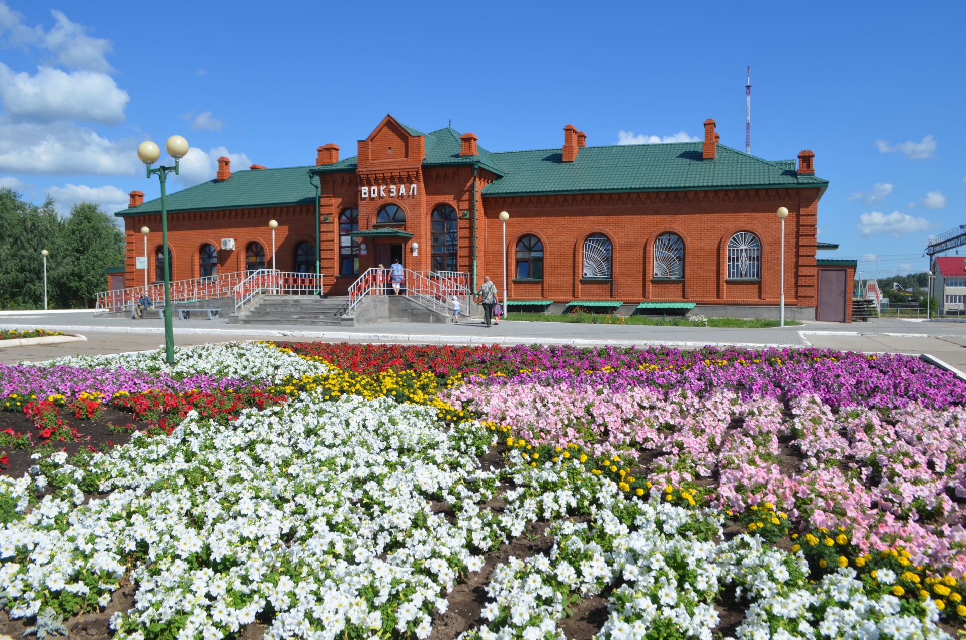
[[[585,147],[564,162],[560,149],[490,154],[506,173],[485,196],[630,190],[763,189],[817,187],[828,181],[799,175],[784,160],[761,160],[718,145],[703,160],[701,142]]]

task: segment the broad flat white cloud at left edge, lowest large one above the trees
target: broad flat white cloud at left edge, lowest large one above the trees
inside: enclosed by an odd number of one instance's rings
[[[110,140],[71,123],[0,121],[0,171],[130,175],[140,166],[134,138]]]

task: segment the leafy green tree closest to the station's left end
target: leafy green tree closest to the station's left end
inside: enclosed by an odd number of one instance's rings
[[[79,202],[64,225],[64,267],[57,273],[57,290],[71,306],[91,306],[107,289],[104,270],[124,265],[124,234],[98,205]]]

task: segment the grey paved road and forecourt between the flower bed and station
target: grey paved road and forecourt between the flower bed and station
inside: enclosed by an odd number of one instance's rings
[[[164,342],[164,325],[156,318],[104,319],[93,312],[24,311],[0,313],[0,328],[43,327],[87,336],[86,342],[0,348],[0,363],[47,360],[63,355],[117,353],[153,349]],[[774,329],[649,327],[504,320],[486,328],[476,322],[421,324],[386,322],[367,327],[304,325],[230,325],[227,320],[175,320],[175,344],[251,339],[313,339],[353,342],[412,343],[570,343],[668,345],[697,347],[816,346],[850,351],[929,353],[966,368],[966,323],[879,319],[841,324],[807,322]]]

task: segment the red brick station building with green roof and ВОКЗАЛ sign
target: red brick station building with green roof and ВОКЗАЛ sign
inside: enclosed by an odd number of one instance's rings
[[[394,258],[417,272],[469,273],[476,287],[490,276],[502,296],[506,211],[511,303],[622,303],[625,312],[675,303],[777,317],[776,211],[786,207],[786,317],[848,319],[855,262],[816,259],[816,249],[835,246],[815,237],[828,181],[815,175],[814,154],[761,160],[720,137],[706,120],[699,142],[593,147],[567,125],[558,148],[491,153],[473,133],[424,133],[390,115],[352,158],[340,160],[334,144],[316,150],[314,165],[233,171],[221,158],[214,180],[167,196],[171,277],[270,267],[275,219],[275,268],[315,273],[318,259],[329,296]],[[125,220],[127,287],[144,282],[135,269],[142,226],[151,229],[147,271],[162,275],[160,201],[143,200],[131,191],[116,214]]]

